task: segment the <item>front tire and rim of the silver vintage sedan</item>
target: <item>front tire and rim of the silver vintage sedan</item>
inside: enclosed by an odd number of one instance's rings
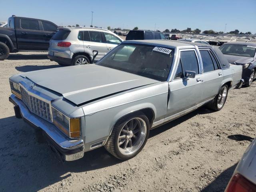
[[[131,159],[145,146],[149,127],[148,118],[142,112],[127,115],[118,120],[104,147],[118,159]]]

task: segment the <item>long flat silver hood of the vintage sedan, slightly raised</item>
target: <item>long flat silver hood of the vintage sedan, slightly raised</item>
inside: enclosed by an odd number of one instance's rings
[[[95,64],[38,70],[20,76],[62,94],[76,105],[159,82]]]

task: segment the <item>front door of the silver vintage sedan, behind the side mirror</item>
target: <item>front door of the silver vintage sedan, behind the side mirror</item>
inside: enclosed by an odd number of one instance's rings
[[[196,72],[195,78],[184,78],[185,71]],[[178,66],[169,82],[167,117],[182,112],[202,102],[202,74],[196,50],[180,50]]]

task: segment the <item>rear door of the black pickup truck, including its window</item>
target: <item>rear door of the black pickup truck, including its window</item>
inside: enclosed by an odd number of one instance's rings
[[[19,26],[15,29],[19,50],[44,50],[42,28],[38,20],[20,19]]]

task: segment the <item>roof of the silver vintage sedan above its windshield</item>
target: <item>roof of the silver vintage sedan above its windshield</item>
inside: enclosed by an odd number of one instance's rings
[[[160,40],[160,39],[152,39],[152,40],[130,40],[124,41],[124,43],[139,43],[139,44],[154,44],[159,46],[168,46],[174,48],[195,48],[198,47],[212,47],[211,45],[194,43],[194,42],[186,42],[186,41],[177,41],[177,40]]]

